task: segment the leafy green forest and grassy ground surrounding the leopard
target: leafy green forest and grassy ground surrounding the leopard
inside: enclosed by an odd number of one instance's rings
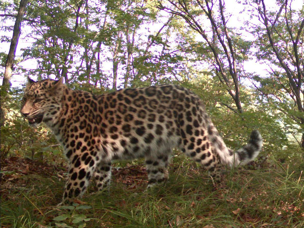
[[[1,228],[304,227],[302,0],[3,0],[0,24]],[[228,147],[259,130],[263,148],[220,187],[178,150],[149,191],[144,161],[118,160],[108,190],[56,207],[68,162],[20,114],[28,76],[94,94],[181,85]]]

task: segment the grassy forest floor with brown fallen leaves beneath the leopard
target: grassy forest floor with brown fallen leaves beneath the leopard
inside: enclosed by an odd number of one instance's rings
[[[304,227],[304,174],[275,161],[227,170],[214,188],[206,171],[177,156],[168,182],[149,191],[138,161],[113,170],[109,191],[94,193],[91,184],[81,200],[59,208],[64,164],[20,157],[1,163],[1,228]]]

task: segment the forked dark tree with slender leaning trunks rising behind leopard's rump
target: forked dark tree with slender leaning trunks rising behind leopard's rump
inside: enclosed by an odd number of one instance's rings
[[[203,39],[206,40],[214,56],[214,66],[216,71],[219,72],[219,74],[217,74],[219,81],[227,87],[226,90],[232,97],[237,107],[237,112],[243,113],[240,102],[240,81],[237,69],[236,46],[234,46],[233,40],[229,34],[229,30],[226,26],[227,20],[224,14],[225,7],[223,2],[219,0],[218,11],[220,14],[219,17],[217,17],[214,15],[215,3],[213,1],[196,1],[202,12],[204,12],[205,16],[208,17],[211,23],[212,37],[210,37],[205,29],[200,25],[197,17],[193,15],[191,8],[192,6],[190,3],[185,1],[175,2],[173,0],[168,0],[168,2],[171,3],[173,9],[169,8],[170,6],[164,5],[159,5],[158,7],[171,13],[172,15],[177,15],[183,18],[191,29],[197,31],[203,37]],[[217,42],[215,42],[215,38]],[[219,51],[221,49],[223,49],[223,54],[221,54]],[[225,61],[226,63],[224,63]],[[229,80],[229,76],[231,76],[233,79],[233,84]],[[232,89],[233,86],[234,90]]]

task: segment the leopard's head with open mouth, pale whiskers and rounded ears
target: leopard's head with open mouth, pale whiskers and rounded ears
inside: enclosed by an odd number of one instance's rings
[[[33,81],[28,77],[20,112],[30,126],[38,127],[61,110],[63,90],[63,78]]]

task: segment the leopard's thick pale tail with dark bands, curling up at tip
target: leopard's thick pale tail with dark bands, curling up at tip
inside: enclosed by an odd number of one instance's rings
[[[253,161],[262,149],[263,140],[258,130],[252,131],[248,143],[237,151],[226,147],[211,121],[209,122],[208,133],[212,149],[219,155],[221,163],[228,164],[231,167],[245,165]]]

